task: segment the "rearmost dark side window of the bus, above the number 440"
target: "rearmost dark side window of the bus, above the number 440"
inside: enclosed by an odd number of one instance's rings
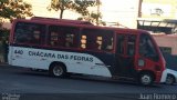
[[[44,43],[45,26],[19,22],[15,26],[14,42],[41,44]]]

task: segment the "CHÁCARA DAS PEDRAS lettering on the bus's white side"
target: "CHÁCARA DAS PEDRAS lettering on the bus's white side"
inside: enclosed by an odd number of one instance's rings
[[[40,52],[40,51],[29,51],[29,56],[93,62],[93,58],[92,58],[92,57],[69,56],[69,54],[55,54],[55,53]]]

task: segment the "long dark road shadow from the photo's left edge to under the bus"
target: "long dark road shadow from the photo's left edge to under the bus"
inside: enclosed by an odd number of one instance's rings
[[[0,66],[0,72],[7,72],[11,74],[20,74],[20,76],[30,76],[35,78],[54,78],[49,76],[48,71],[32,71],[27,68],[20,68],[20,67],[11,67],[11,66]],[[85,76],[85,74],[71,74],[69,78],[55,78],[55,79],[62,79],[62,80],[80,80],[80,81],[90,81],[90,82],[102,82],[102,83],[113,83],[113,84],[121,84],[121,86],[135,86],[135,87],[144,87],[139,86],[135,81],[129,80],[112,80],[110,78],[103,78],[103,77],[95,77],[95,76]],[[149,86],[148,88],[160,88],[162,84],[154,84]]]

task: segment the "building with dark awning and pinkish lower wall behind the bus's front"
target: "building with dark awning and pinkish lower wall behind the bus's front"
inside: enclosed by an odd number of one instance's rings
[[[177,56],[177,0],[140,0],[137,29],[149,31],[163,52]]]

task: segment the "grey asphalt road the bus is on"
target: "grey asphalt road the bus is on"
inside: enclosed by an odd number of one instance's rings
[[[14,100],[7,97],[19,97],[17,100],[144,100],[142,96],[155,100],[160,94],[170,94],[170,99],[164,100],[177,100],[177,86],[142,87],[133,82],[77,76],[60,79],[49,77],[48,72],[3,64],[0,66],[0,93],[2,100]]]

